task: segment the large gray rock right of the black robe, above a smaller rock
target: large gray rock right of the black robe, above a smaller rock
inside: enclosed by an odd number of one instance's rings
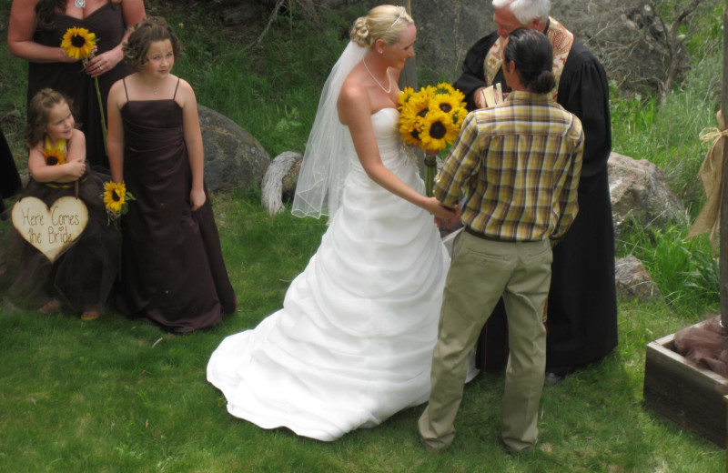
[[[636,218],[645,228],[688,224],[687,211],[672,193],[662,169],[646,159],[612,153],[608,161],[614,233]]]

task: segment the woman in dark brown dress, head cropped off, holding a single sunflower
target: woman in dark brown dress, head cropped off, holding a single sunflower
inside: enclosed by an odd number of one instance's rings
[[[127,28],[145,15],[143,0],[13,0],[7,45],[13,55],[30,62],[27,100],[45,87],[70,98],[86,135],[86,159],[91,166],[106,170],[109,166],[94,77],[106,107],[109,88],[132,73],[122,61]],[[81,61],[68,57],[60,47],[61,38],[73,26],[86,28],[98,38],[96,55],[86,71]]]

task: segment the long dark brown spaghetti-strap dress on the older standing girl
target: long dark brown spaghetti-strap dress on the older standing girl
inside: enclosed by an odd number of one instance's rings
[[[169,332],[210,327],[235,310],[237,299],[209,198],[190,208],[182,108],[174,98],[128,99],[121,109],[124,179],[136,200],[122,218],[117,306]]]

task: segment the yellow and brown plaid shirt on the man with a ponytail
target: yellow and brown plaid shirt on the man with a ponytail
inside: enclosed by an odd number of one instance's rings
[[[581,121],[547,95],[511,92],[470,113],[440,171],[435,196],[486,237],[558,240],[576,216]]]

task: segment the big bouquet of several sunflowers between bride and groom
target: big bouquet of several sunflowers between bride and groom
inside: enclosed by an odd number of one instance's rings
[[[441,82],[437,86],[424,86],[415,92],[405,87],[399,93],[399,134],[405,143],[418,146],[422,151],[439,153],[450,145],[458,133],[468,111],[465,96],[460,90]],[[437,163],[435,156],[425,157],[425,190],[432,196]]]

